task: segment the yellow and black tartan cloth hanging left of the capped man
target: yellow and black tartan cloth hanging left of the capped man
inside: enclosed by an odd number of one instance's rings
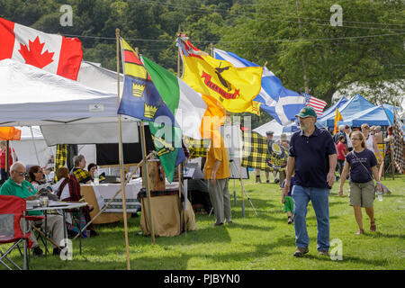
[[[265,171],[273,171],[266,164],[266,158],[270,157],[267,150],[267,139],[257,132],[243,132],[243,160],[242,166],[257,168]]]

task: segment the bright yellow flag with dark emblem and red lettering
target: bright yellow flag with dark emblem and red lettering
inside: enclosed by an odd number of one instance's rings
[[[228,61],[212,58],[195,48],[184,34],[177,38],[183,58],[183,81],[193,90],[210,95],[229,112],[260,115],[253,99],[261,89],[263,67],[234,67]]]

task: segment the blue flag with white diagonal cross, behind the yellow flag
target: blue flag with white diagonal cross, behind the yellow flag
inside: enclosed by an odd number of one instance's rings
[[[230,62],[234,67],[258,67],[235,53],[220,49],[214,49],[214,57]],[[260,103],[260,107],[282,125],[292,123],[306,102],[301,94],[284,88],[280,79],[266,67],[263,69],[260,93],[253,101]]]

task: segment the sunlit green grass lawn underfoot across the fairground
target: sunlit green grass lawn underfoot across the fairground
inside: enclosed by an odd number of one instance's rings
[[[255,184],[252,177],[245,180],[248,196],[257,210],[252,209],[245,196],[245,217],[242,216],[240,184],[236,183],[237,205],[233,202],[234,181],[229,180],[233,223],[213,227],[214,216],[196,214],[195,231],[176,237],[157,237],[153,245],[150,237],[138,234],[140,217],[128,221],[130,242],[130,267],[132,270],[272,270],[272,269],[404,269],[405,267],[405,176],[395,180],[386,178],[383,183],[392,191],[375,200],[377,231],[369,231],[369,220],[364,215],[365,234],[357,236],[353,208],[348,205],[348,184],[345,196],[338,196],[338,184],[330,193],[330,240],[342,243],[341,261],[321,257],[317,253],[317,223],[309,204],[307,225],[310,235],[310,252],[302,258],[293,257],[295,251],[293,225],[281,204],[281,190],[277,184]],[[273,175],[270,175],[272,177]],[[266,180],[264,174],[263,179]],[[270,178],[273,180],[273,178]],[[140,213],[139,213],[140,215]],[[126,248],[123,222],[97,225],[99,237],[83,240],[83,254],[78,253],[78,240],[73,243],[73,260],[59,257],[31,259],[31,269],[126,269]],[[1,248],[4,250],[5,245]],[[12,258],[22,263],[18,251]],[[1,266],[0,269],[5,269]]]

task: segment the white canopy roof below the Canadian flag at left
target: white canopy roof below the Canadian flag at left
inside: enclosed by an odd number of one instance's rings
[[[12,59],[0,61],[0,125],[33,126],[117,117],[116,94]]]

